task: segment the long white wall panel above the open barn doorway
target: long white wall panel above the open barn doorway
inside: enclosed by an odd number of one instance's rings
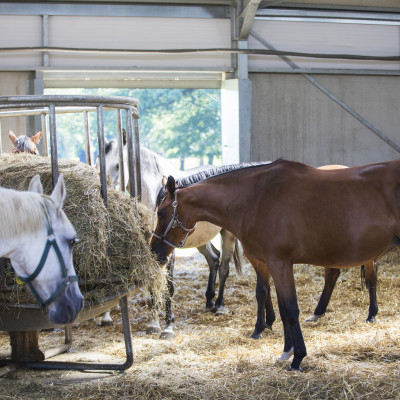
[[[230,47],[230,20],[52,16],[49,45],[110,49]],[[50,66],[227,67],[229,55],[51,54]]]

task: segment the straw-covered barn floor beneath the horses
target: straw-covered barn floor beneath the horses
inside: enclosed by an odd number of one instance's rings
[[[396,262],[398,264],[398,262]],[[232,267],[232,270],[234,268]],[[360,270],[344,271],[326,316],[302,323],[308,356],[303,372],[289,372],[278,362],[283,349],[279,317],[273,332],[249,339],[256,318],[255,274],[232,271],[225,303],[230,312],[205,311],[208,268],[200,254],[177,256],[175,317],[177,336],[163,341],[145,334],[149,299],[138,292],[130,301],[134,365],[124,373],[82,373],[17,369],[1,377],[1,399],[398,399],[400,398],[400,274],[394,263],[378,272],[377,323],[364,322],[368,292]],[[296,266],[301,321],[309,316],[323,286],[323,269]],[[273,298],[277,311],[276,300]],[[100,319],[74,326],[73,347],[59,360],[123,362],[119,311],[113,327]],[[63,332],[42,332],[46,349],[63,341]],[[8,349],[0,333],[0,352]]]

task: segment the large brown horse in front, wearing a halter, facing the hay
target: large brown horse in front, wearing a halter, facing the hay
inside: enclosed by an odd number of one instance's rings
[[[306,347],[293,264],[359,266],[400,245],[400,160],[337,170],[275,161],[237,169],[168,193],[158,209],[152,251],[173,247],[208,221],[243,244],[257,281],[272,276],[284,328],[284,355],[299,369]]]

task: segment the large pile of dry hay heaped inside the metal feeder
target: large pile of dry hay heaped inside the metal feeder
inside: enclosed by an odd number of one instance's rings
[[[98,172],[78,161],[59,160],[58,164],[67,187],[64,211],[80,240],[73,256],[85,302],[101,303],[136,286],[160,294],[166,280],[148,246],[150,211],[128,194],[109,188],[110,254],[107,256],[108,217],[100,194]],[[4,154],[0,157],[0,183],[3,187],[26,190],[36,174],[40,175],[44,192],[50,194],[49,158],[30,154]],[[8,273],[7,284],[13,290],[11,293],[0,292],[0,301],[35,302],[24,286],[14,285],[14,282],[12,274]]]

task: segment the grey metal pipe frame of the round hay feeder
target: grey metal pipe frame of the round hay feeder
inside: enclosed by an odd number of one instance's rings
[[[119,96],[2,96],[0,97],[0,109],[7,110],[8,108],[22,108],[23,110],[10,110],[0,111],[0,119],[2,117],[20,117],[41,115],[42,121],[42,135],[44,134],[44,152],[47,155],[47,140],[46,140],[46,115],[49,115],[49,132],[50,132],[50,154],[51,154],[51,169],[53,187],[58,178],[58,155],[57,155],[57,127],[56,127],[56,114],[59,113],[82,113],[84,121],[84,134],[85,134],[85,149],[86,149],[86,162],[91,164],[90,156],[90,137],[89,137],[89,123],[88,112],[96,111],[97,114],[97,139],[99,147],[99,162],[100,162],[100,181],[101,181],[101,194],[104,204],[108,210],[107,202],[107,178],[106,178],[106,161],[105,161],[105,139],[104,139],[104,110],[116,110],[117,114],[117,140],[121,146],[119,151],[119,163],[123,165],[123,151],[122,151],[122,126],[121,126],[121,110],[126,113],[126,130],[127,130],[127,146],[128,146],[128,171],[130,181],[131,196],[137,195],[140,198],[141,184],[140,184],[140,143],[139,143],[139,125],[137,121],[139,118],[138,100],[129,97]],[[35,107],[36,109],[32,109]],[[41,107],[41,108],[38,108]],[[30,108],[30,109],[28,109]],[[1,139],[1,138],[0,138]],[[135,147],[134,147],[135,146]],[[135,148],[135,153],[133,149]],[[1,140],[0,140],[1,149]],[[120,168],[123,170],[123,168]],[[122,177],[123,180],[127,177]],[[122,182],[123,184],[123,182]],[[121,190],[124,188],[121,187]],[[108,221],[108,218],[107,218]],[[107,248],[107,254],[110,248],[110,236]],[[124,370],[129,368],[133,363],[132,351],[132,338],[130,331],[130,321],[128,312],[128,303],[126,295],[120,298],[120,307],[123,320],[123,331],[125,338],[126,361],[123,364],[90,364],[79,362],[51,362],[43,361],[39,363],[25,363],[27,367],[31,368],[45,368],[45,369],[75,369],[75,370]],[[69,329],[67,327],[67,329]],[[67,340],[67,337],[69,338]],[[66,345],[61,349],[69,348],[70,346],[70,331],[66,331]],[[68,343],[67,343],[68,341]],[[56,351],[59,353],[59,350]],[[12,363],[11,360],[0,360],[0,365],[8,365]]]

